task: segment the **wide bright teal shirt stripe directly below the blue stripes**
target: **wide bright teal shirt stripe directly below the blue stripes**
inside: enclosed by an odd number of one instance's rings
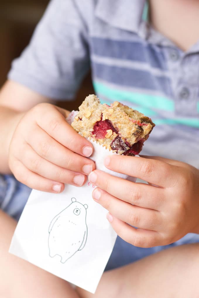
[[[143,106],[143,108],[151,108],[152,110],[156,108],[169,112],[174,111],[174,102],[166,97],[116,90],[96,81],[93,82],[93,86],[96,93],[100,93],[113,101],[127,100],[136,105]]]

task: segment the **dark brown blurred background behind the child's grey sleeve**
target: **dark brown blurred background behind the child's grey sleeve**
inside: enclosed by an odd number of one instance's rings
[[[48,0],[0,1],[0,86],[6,80],[11,62],[27,46],[44,13]],[[77,109],[88,94],[94,93],[90,74],[83,81],[75,102],[60,102],[68,110]]]

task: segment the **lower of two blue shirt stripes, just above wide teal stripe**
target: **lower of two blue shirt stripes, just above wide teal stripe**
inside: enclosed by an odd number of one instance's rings
[[[127,69],[95,62],[92,62],[92,72],[94,77],[98,77],[109,83],[115,83],[125,87],[158,90],[165,93],[168,97],[172,97],[170,89],[171,82],[168,77],[156,77],[151,75],[150,72],[143,70]]]

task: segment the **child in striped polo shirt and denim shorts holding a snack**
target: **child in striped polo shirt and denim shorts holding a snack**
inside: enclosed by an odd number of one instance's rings
[[[198,14],[197,0],[50,2],[0,94],[1,296],[199,296]],[[95,170],[92,145],[54,105],[74,97],[90,66],[102,102],[119,100],[156,123],[149,156],[104,161],[149,185]],[[60,193],[87,175],[120,236],[107,269],[122,267],[104,273],[95,295],[7,253],[16,226],[7,214],[19,217],[28,187]]]

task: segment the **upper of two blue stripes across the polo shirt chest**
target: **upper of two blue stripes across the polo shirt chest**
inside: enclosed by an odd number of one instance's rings
[[[158,46],[139,41],[118,41],[92,37],[91,53],[103,57],[145,62],[152,67],[167,70],[166,60]]]

